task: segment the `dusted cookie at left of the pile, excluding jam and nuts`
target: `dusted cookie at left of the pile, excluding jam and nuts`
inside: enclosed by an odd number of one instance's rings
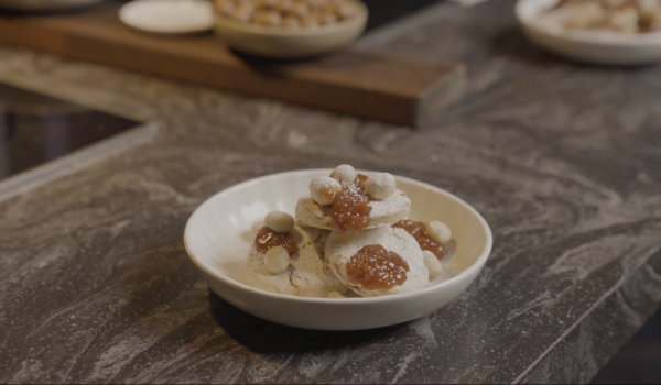
[[[323,297],[347,290],[329,271],[324,258],[325,242],[329,231],[295,226],[293,235],[297,251],[291,256],[290,266],[280,274],[272,274],[264,264],[264,254],[253,243],[248,253],[246,283],[252,287],[279,294],[301,297]]]

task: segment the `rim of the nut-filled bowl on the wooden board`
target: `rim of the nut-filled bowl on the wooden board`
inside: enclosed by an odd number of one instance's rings
[[[263,35],[263,36],[272,36],[272,35],[319,36],[319,35],[336,33],[338,31],[346,30],[346,29],[355,26],[357,24],[362,24],[367,21],[368,16],[369,16],[369,11],[368,11],[367,7],[362,3],[362,1],[357,1],[357,0],[349,0],[349,1],[351,1],[353,3],[358,6],[359,12],[357,15],[355,15],[354,18],[349,18],[347,20],[338,21],[333,24],[321,25],[316,29],[310,29],[310,30],[305,30],[305,29],[285,30],[285,29],[280,29],[280,28],[275,28],[275,26],[267,26],[267,25],[259,25],[259,24],[252,24],[252,23],[241,23],[239,21],[227,19],[223,15],[219,15],[215,11],[214,11],[214,19],[215,19],[216,25],[221,24],[224,28],[228,28],[228,29],[231,29],[235,31],[240,31],[240,32],[252,33],[256,35]]]

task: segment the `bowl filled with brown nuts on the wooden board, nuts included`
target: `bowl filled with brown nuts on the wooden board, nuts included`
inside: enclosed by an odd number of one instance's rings
[[[229,47],[282,59],[339,50],[360,36],[368,18],[358,0],[215,1],[215,31]]]

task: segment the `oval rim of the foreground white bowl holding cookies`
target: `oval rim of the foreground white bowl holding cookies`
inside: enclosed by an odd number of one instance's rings
[[[293,300],[293,301],[303,302],[303,304],[345,304],[345,305],[347,305],[347,304],[354,304],[354,305],[366,304],[367,305],[367,304],[373,304],[373,302],[404,300],[407,298],[412,298],[412,297],[416,297],[420,295],[430,294],[432,292],[442,290],[445,286],[451,285],[455,280],[462,279],[463,276],[476,273],[475,271],[477,271],[477,273],[478,273],[483,268],[485,263],[487,262],[487,258],[489,257],[489,255],[491,254],[491,248],[494,245],[494,235],[491,233],[491,228],[489,227],[489,223],[487,223],[487,221],[483,218],[483,216],[473,206],[468,205],[464,199],[457,197],[456,195],[448,193],[440,187],[436,187],[436,186],[433,186],[427,183],[420,182],[420,180],[416,180],[413,178],[409,178],[405,176],[399,176],[399,175],[393,175],[393,176],[395,177],[395,179],[401,179],[401,180],[405,180],[411,184],[416,184],[421,187],[429,188],[429,189],[435,190],[437,193],[441,193],[452,199],[456,199],[457,201],[459,201],[459,204],[462,204],[464,207],[466,207],[468,209],[468,211],[470,211],[477,218],[478,222],[483,226],[483,230],[485,231],[485,235],[486,235],[485,248],[481,251],[480,255],[477,257],[477,260],[475,260],[475,262],[473,264],[470,264],[470,266],[466,267],[459,274],[453,276],[452,278],[445,279],[434,286],[429,286],[429,287],[425,287],[425,288],[422,288],[419,290],[414,290],[414,292],[391,294],[391,295],[379,296],[379,297],[360,297],[360,298],[299,297],[299,296],[291,296],[291,295],[286,295],[286,294],[264,292],[264,290],[248,286],[246,284],[236,282],[235,279],[229,278],[229,277],[227,277],[223,274],[219,274],[216,271],[207,267],[204,263],[202,263],[201,261],[197,260],[197,257],[195,256],[194,253],[191,252],[191,249],[188,248],[188,238],[191,237],[189,232],[192,231],[191,223],[193,221],[193,218],[196,215],[198,215],[198,212],[202,212],[202,210],[204,209],[205,206],[210,205],[209,202],[213,199],[219,199],[219,197],[221,197],[224,195],[228,195],[230,193],[234,193],[237,189],[247,187],[252,184],[257,184],[264,179],[277,179],[277,178],[280,178],[283,176],[296,175],[296,174],[308,174],[308,173],[310,174],[312,174],[312,173],[329,174],[332,170],[333,170],[333,168],[310,168],[310,169],[297,169],[297,170],[291,170],[291,172],[269,174],[269,175],[260,176],[257,178],[248,179],[246,182],[230,186],[224,190],[220,190],[220,191],[214,194],[213,196],[207,198],[202,205],[199,205],[195,209],[195,211],[193,211],[193,213],[188,218],[188,221],[186,222],[186,228],[184,229],[184,246],[186,249],[186,253],[188,254],[188,257],[193,261],[193,263],[198,268],[203,270],[204,272],[206,272],[210,276],[215,277],[216,279],[223,280],[227,285],[234,286],[235,288],[238,288],[238,289],[251,292],[256,295],[271,297],[275,300]],[[367,170],[367,169],[357,169],[357,172],[359,172],[359,173],[378,173],[378,172]]]

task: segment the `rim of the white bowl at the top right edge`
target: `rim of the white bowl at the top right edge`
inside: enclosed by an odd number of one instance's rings
[[[553,36],[557,40],[562,40],[567,43],[578,42],[578,43],[585,43],[585,44],[599,45],[599,46],[604,46],[604,47],[614,47],[614,46],[631,47],[631,46],[658,46],[658,45],[661,45],[661,31],[651,32],[650,34],[646,34],[646,35],[638,34],[636,37],[632,37],[631,40],[621,40],[621,41],[603,41],[603,40],[593,38],[593,37],[589,37],[586,35],[567,35],[567,34],[550,32],[548,30],[540,28],[538,25],[538,23],[535,23],[534,18],[539,18],[539,15],[540,15],[539,12],[537,14],[534,14],[533,18],[527,18],[523,15],[523,8],[525,7],[525,3],[533,2],[533,1],[538,1],[538,0],[518,0],[517,4],[514,6],[514,14],[520,24],[528,26],[529,29],[534,30],[535,32],[539,32],[546,36]]]

